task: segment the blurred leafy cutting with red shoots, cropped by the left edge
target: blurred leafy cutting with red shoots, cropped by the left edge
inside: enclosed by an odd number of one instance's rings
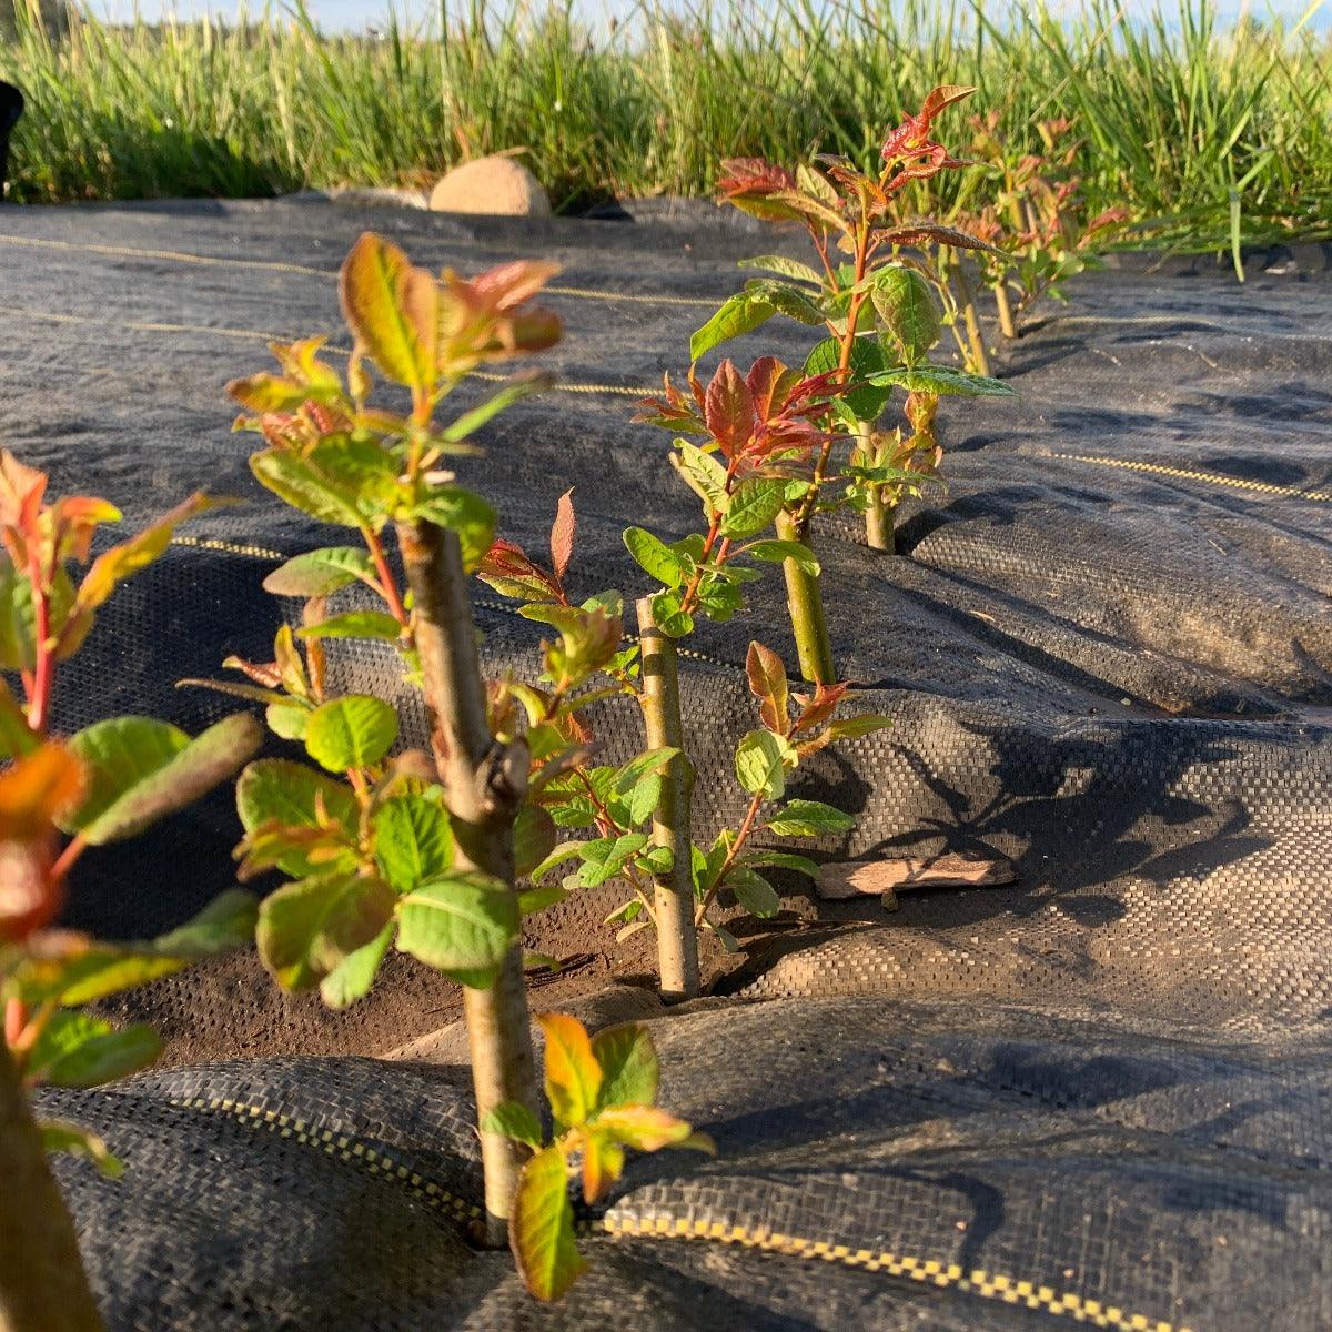
[[[60,669],[101,606],[208,506],[192,496],[89,563],[97,529],[120,511],[91,496],[49,500],[45,474],[0,450],[0,667],[23,687],[20,703],[0,682],[0,1327],[12,1332],[101,1328],[44,1152],[76,1152],[111,1177],[123,1169],[77,1124],[35,1122],[29,1088],[96,1087],[151,1064],[161,1050],[151,1027],[117,1028],[80,1006],[240,947],[254,927],[253,900],[233,890],[160,939],[107,943],[55,928],[89,848],[189,805],[260,746],[244,714],[193,739],[151,717],[108,718],[69,738],[51,729]]]

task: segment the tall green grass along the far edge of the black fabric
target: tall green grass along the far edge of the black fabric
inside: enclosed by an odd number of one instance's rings
[[[1245,240],[1332,236],[1332,39],[1309,23],[1221,31],[1209,0],[1132,23],[1116,0],[1071,21],[982,0],[643,0],[594,36],[570,7],[505,3],[378,40],[321,35],[300,8],[228,28],[77,17],[63,39],[20,21],[0,49],[29,99],[11,197],[424,182],[514,147],[558,208],[706,194],[721,156],[868,163],[930,87],[967,83],[1015,151],[1076,116],[1091,205],[1127,204],[1158,241],[1227,245],[1233,201]]]

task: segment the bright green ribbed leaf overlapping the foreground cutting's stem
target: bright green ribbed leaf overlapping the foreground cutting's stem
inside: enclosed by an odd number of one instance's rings
[[[485,874],[452,874],[402,899],[398,948],[450,980],[485,990],[521,920],[514,894]]]

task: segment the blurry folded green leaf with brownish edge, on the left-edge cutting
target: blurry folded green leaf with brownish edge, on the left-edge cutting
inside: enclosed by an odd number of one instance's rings
[[[88,797],[61,822],[93,846],[119,842],[184,809],[230,777],[264,743],[246,713],[190,739],[151,717],[115,717],[80,731],[69,749],[89,773]]]

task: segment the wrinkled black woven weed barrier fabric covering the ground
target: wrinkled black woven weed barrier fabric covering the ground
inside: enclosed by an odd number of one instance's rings
[[[735,258],[774,248],[719,217],[0,213],[5,446],[131,521],[196,486],[245,500],[117,595],[59,726],[149,711],[193,731],[229,709],[177,679],[270,655],[290,607],[260,582],[326,534],[250,480],[221,386],[268,337],[345,346],[333,274],[368,225],[432,266],[563,262],[559,386],[460,473],[537,549],[575,486],[575,587],[638,590],[621,529],[683,535],[697,514],[630,402],[683,369]],[[944,408],[948,489],[902,555],[818,534],[842,671],[896,721],[802,769],[799,794],[859,819],[818,854],[984,848],[1016,882],[892,916],[783,884],[782,916],[714,966],[725,1000],[654,1022],[666,1103],[718,1159],[635,1162],[585,1217],[593,1269],[566,1304],[531,1305],[461,1237],[465,1070],[373,1058],[448,1023],[453,987],[394,964],[334,1016],[240,955],[111,1010],[159,1024],[164,1071],[41,1098],[129,1167],[60,1166],[112,1325],[1329,1325],[1332,273],[1315,248],[1248,277],[1139,260],[1083,278],[1000,354],[1020,401]],[[794,361],[803,337],[774,322],[729,350]],[[794,657],[779,577],[751,591],[683,663],[703,834],[739,813],[749,641]],[[539,629],[484,589],[477,614],[488,666],[530,673]],[[400,690],[370,646],[336,675]],[[594,721],[611,759],[638,747],[630,711]],[[178,923],[230,883],[236,836],[224,793],[87,856],[69,923]],[[599,924],[614,902],[533,922],[534,947],[587,955],[582,992],[650,967]]]

